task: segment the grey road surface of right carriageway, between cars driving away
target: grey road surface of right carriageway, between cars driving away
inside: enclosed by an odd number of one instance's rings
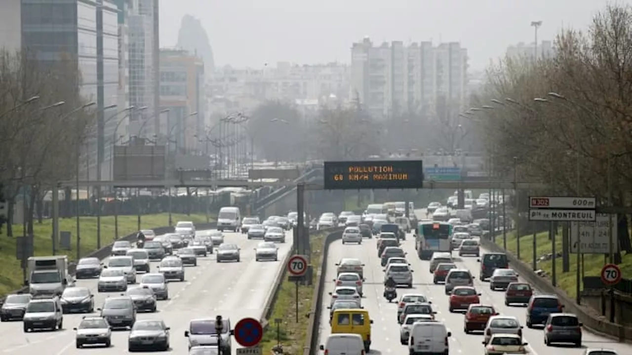
[[[418,216],[425,216],[425,211],[415,211]],[[425,217],[424,217],[425,218]],[[437,320],[445,322],[447,328],[451,330],[452,337],[449,340],[450,354],[483,354],[484,348],[481,344],[483,340],[482,334],[465,334],[463,332],[463,313],[450,313],[448,311],[448,296],[444,294],[444,286],[434,285],[432,283],[432,274],[428,272],[428,261],[419,260],[415,254],[415,242],[412,235],[409,234],[406,241],[402,243],[404,250],[408,253],[408,261],[414,270],[413,289],[398,288],[398,295],[403,293],[421,293],[432,301],[435,311],[437,311]],[[484,250],[482,250],[484,252]],[[493,305],[501,315],[511,315],[518,317],[521,325],[525,326],[526,306],[504,306],[504,292],[490,291],[488,282],[478,280],[479,263],[475,256],[459,257],[456,252],[453,253],[454,260],[458,267],[468,268],[476,277],[474,285],[478,292],[482,292],[481,302],[483,304]],[[396,353],[404,354],[408,351],[406,346],[399,342],[399,325],[396,322],[397,306],[396,303],[388,303],[382,292],[384,291],[384,272],[380,266],[380,260],[377,256],[375,248],[375,238],[365,239],[361,245],[346,244],[343,246],[341,241],[336,241],[329,248],[329,256],[327,258],[327,275],[325,276],[324,298],[322,306],[322,315],[320,320],[320,337],[319,344],[325,344],[327,336],[330,334],[329,327],[329,306],[330,296],[326,292],[334,289],[332,280],[336,277],[336,263],[340,258],[358,258],[365,263],[363,286],[364,298],[362,306],[368,310],[370,318],[374,320],[372,325],[372,345],[371,353]],[[556,352],[558,355],[580,355],[583,349],[574,347],[547,347],[544,345],[542,330],[540,328],[529,329],[526,326],[523,329],[523,337],[529,343],[527,347],[533,355],[546,355]],[[583,347],[603,347],[615,349],[619,354],[632,354],[632,345],[619,343],[616,340],[592,334],[588,330],[583,332]],[[474,351],[474,352],[472,352]]]

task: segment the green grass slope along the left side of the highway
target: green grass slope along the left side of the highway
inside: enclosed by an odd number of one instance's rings
[[[183,215],[173,214],[171,216],[173,223],[178,220],[191,220],[195,223],[206,222],[205,215]],[[211,219],[214,220],[214,219]],[[33,225],[33,255],[51,255],[52,254],[52,220],[46,219],[42,224]],[[155,227],[164,227],[169,225],[169,214],[143,215],[140,219],[140,226],[143,229]],[[58,250],[58,255],[68,255],[70,260],[76,259],[76,219],[66,218],[59,219],[59,231],[71,232],[71,248],[72,250]],[[81,255],[87,255],[97,250],[97,218],[96,217],[80,217],[79,231],[81,236]],[[123,215],[118,217],[118,235],[126,236],[138,231],[138,217],[135,215]],[[22,225],[13,225],[13,235],[22,236]],[[114,217],[101,217],[101,246],[114,241]],[[15,258],[15,240],[9,238],[6,234],[0,235],[0,296],[4,296],[8,292],[19,289],[23,284],[22,270],[20,261]]]

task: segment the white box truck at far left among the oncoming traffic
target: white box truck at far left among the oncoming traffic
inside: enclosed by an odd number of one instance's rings
[[[27,260],[28,292],[33,296],[61,295],[72,282],[68,275],[68,256],[31,256]]]

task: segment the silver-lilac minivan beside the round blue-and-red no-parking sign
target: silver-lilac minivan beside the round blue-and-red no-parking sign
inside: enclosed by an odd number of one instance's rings
[[[219,355],[231,355],[232,339],[231,339],[231,320],[230,318],[199,318],[189,322],[189,329],[185,331],[185,337],[188,338],[188,347],[193,346],[217,346],[217,327],[216,323],[221,319],[221,353]]]

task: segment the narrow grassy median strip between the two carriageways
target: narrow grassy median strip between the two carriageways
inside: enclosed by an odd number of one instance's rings
[[[287,275],[283,279],[281,289],[277,294],[276,303],[272,308],[272,315],[269,318],[268,327],[265,329],[264,337],[261,341],[263,354],[270,354],[272,347],[277,345],[277,325],[275,319],[281,320],[279,340],[283,346],[283,353],[297,355],[303,353],[305,339],[307,338],[307,327],[310,311],[312,311],[312,301],[314,287],[318,282],[318,272],[320,269],[320,255],[322,254],[322,243],[327,234],[320,233],[312,236],[312,286],[298,287],[298,323],[296,323],[296,286],[294,282],[289,282]]]

